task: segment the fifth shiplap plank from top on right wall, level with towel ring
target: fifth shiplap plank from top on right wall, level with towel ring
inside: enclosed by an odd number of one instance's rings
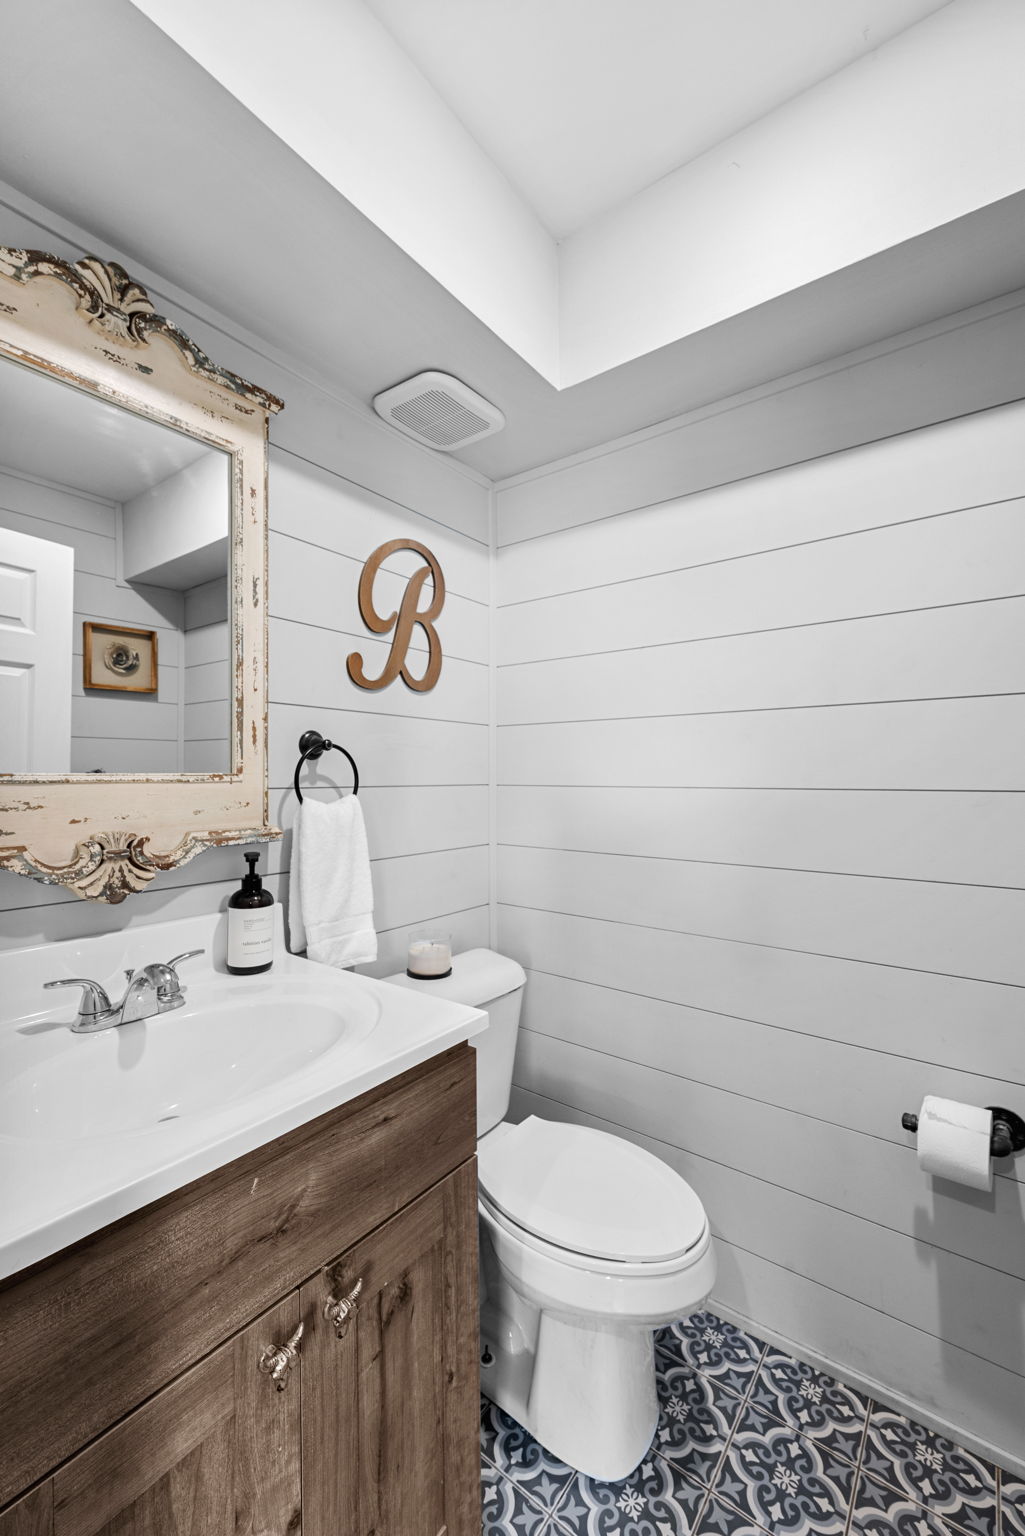
[[[507,725],[498,782],[1020,791],[1025,699]]]

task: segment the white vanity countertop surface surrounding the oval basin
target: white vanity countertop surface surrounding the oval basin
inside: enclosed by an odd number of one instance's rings
[[[109,1051],[111,1037],[128,1031],[135,1032],[135,1049],[129,1052],[128,1066],[118,1063],[115,1071],[129,1074],[124,1083],[131,1087],[138,1051],[157,1041],[157,1031],[163,1032],[166,1051],[175,1023],[192,1017],[201,1025],[206,1008],[246,1006],[258,992],[258,1006],[264,1011],[275,989],[283,994],[284,1031],[289,1001],[301,1006],[313,989],[321,1011],[326,1003],[332,1008],[337,1003],[343,1017],[363,1021],[350,1038],[329,1046],[278,1081],[261,1083],[243,1097],[226,1095],[224,1103],[212,1104],[217,1094],[206,1084],[207,1103],[201,1111],[129,1130],[26,1137],[11,1134],[14,1117],[8,1115],[5,1123],[0,1111],[0,1279],[420,1066],[469,1040],[487,1023],[486,1014],[432,997],[427,986],[409,991],[289,955],[280,906],[277,925],[274,968],[257,977],[227,974],[223,965],[224,914],[148,923],[97,938],[0,954],[0,1075],[14,1091],[25,1078],[25,1095],[37,1091],[40,1081],[45,1084],[41,1071],[55,1049],[89,1051],[106,1040],[101,1049]],[[68,1021],[75,1015],[78,994],[74,989],[41,991],[43,982],[57,977],[89,975],[120,997],[126,966],[138,968],[198,948],[207,954],[181,966],[189,1000],[184,1009],[114,1031],[72,1035]],[[195,1035],[195,1025],[192,1028]],[[197,1072],[201,1078],[201,1060]]]

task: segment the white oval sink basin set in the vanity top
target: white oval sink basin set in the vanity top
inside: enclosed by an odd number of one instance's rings
[[[184,1008],[89,1035],[32,1021],[0,1072],[0,1135],[85,1141],[215,1115],[326,1069],[378,1018],[369,994],[343,1005],[317,980],[281,977],[200,983]]]

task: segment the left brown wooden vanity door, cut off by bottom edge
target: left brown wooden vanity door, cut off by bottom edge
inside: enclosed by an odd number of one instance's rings
[[[52,1536],[298,1531],[298,1369],[283,1390],[260,1369],[298,1321],[292,1292],[74,1456],[52,1479]]]

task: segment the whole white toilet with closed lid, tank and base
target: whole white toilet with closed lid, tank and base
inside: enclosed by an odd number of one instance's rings
[[[716,1275],[704,1207],[642,1147],[585,1126],[504,1120],[526,975],[490,949],[401,986],[481,1008],[476,1048],[481,1385],[542,1445],[616,1481],[658,1419],[655,1329],[695,1312]]]

